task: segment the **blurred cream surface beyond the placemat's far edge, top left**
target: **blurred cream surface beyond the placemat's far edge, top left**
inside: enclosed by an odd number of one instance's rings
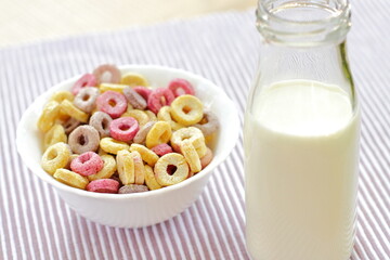
[[[242,11],[257,0],[0,0],[0,48]]]

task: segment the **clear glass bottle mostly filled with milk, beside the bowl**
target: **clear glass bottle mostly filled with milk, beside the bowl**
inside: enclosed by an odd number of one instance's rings
[[[260,64],[244,129],[246,242],[258,260],[347,260],[360,108],[348,0],[260,0]]]

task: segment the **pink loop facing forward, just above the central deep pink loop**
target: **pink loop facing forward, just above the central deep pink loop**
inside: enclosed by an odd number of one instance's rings
[[[118,118],[126,112],[128,103],[123,94],[109,90],[98,98],[96,106],[112,118]]]

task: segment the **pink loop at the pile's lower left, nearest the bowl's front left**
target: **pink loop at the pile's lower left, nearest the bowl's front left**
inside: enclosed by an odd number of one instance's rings
[[[102,158],[93,152],[80,154],[70,162],[70,169],[83,177],[95,174],[103,166]]]

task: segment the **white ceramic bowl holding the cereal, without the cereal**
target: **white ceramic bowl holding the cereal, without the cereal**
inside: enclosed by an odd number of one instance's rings
[[[40,166],[42,134],[36,125],[51,94],[58,90],[69,90],[79,76],[51,88],[27,108],[17,126],[16,145],[27,167],[53,186],[76,212],[101,224],[139,227],[172,218],[197,199],[212,170],[235,146],[239,120],[234,103],[223,90],[203,77],[162,66],[128,65],[121,66],[120,69],[122,73],[135,72],[144,75],[153,87],[166,87],[173,78],[184,78],[193,83],[196,95],[204,102],[205,107],[211,109],[220,120],[220,130],[213,147],[214,158],[208,167],[179,184],[135,194],[92,193],[54,180]]]

